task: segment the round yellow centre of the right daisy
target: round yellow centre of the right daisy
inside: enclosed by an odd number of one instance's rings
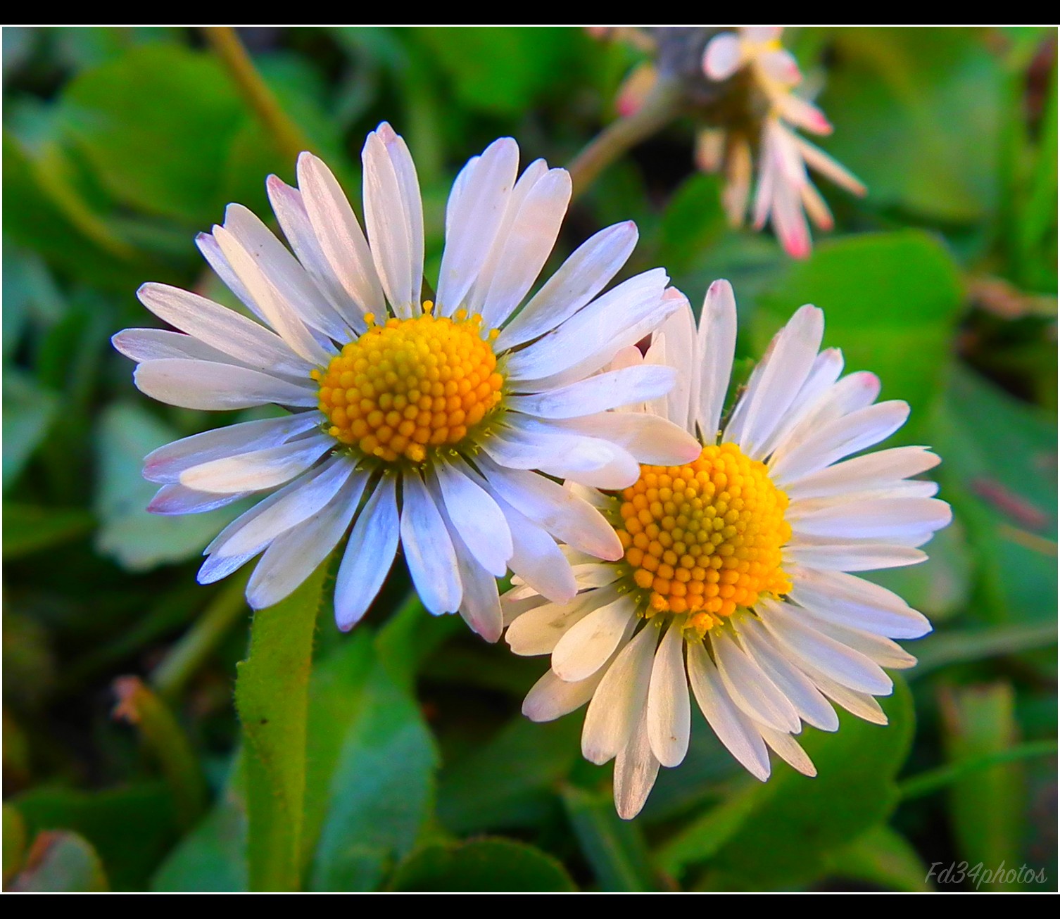
[[[646,616],[691,614],[688,628],[704,635],[763,594],[791,589],[780,567],[788,496],[736,444],[706,446],[684,466],[641,466],[621,500],[618,537]]]

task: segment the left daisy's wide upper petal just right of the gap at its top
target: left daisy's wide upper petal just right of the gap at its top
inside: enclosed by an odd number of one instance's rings
[[[439,315],[456,312],[478,278],[505,216],[518,163],[518,146],[505,137],[471,160],[457,177],[445,212]]]

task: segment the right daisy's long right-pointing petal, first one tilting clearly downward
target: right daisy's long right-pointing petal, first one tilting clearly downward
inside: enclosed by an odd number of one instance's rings
[[[838,624],[885,635],[919,638],[931,622],[901,597],[870,581],[841,571],[792,569],[792,599],[800,606]]]

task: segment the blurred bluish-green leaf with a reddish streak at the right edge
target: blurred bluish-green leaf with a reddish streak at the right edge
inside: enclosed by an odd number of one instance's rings
[[[994,622],[1055,622],[1055,422],[956,367],[934,426],[944,458],[942,494],[975,553],[977,614]]]

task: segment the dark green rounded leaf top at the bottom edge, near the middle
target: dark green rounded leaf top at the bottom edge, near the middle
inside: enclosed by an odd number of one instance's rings
[[[429,893],[569,891],[563,866],[540,849],[511,840],[429,846],[399,868],[391,889]]]

